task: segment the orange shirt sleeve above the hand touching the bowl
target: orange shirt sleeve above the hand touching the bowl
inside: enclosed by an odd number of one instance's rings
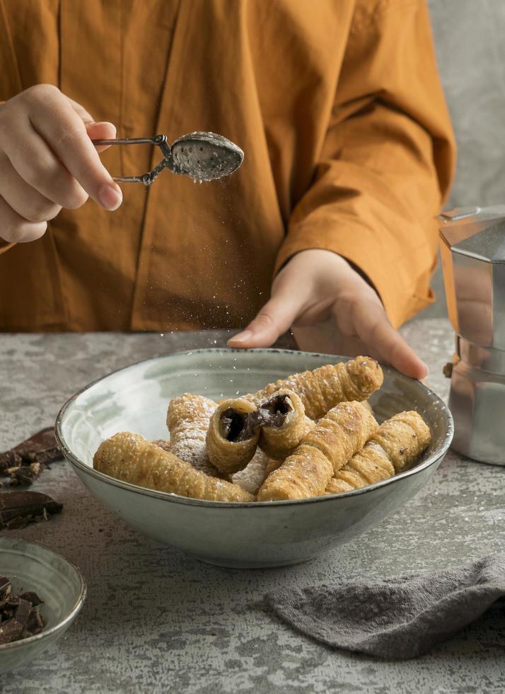
[[[313,184],[292,212],[277,271],[299,251],[334,251],[399,326],[431,300],[435,217],[454,166],[425,1],[356,13]]]

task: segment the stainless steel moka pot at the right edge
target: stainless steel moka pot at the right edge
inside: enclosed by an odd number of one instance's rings
[[[505,205],[441,215],[443,279],[455,330],[453,448],[505,465]]]

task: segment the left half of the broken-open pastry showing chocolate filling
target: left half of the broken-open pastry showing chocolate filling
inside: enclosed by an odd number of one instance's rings
[[[209,423],[209,460],[223,474],[243,470],[253,459],[259,438],[260,422],[255,405],[241,398],[225,400]]]

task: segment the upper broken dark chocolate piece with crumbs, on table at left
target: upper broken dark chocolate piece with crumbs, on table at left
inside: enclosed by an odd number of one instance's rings
[[[11,450],[0,453],[0,474],[11,478],[11,486],[28,486],[44,470],[45,465],[61,457],[54,430],[52,426],[47,427]]]

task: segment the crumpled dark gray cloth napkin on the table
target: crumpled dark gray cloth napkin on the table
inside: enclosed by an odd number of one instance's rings
[[[407,659],[448,639],[504,596],[505,554],[492,554],[443,571],[280,589],[265,601],[281,620],[328,646]]]

